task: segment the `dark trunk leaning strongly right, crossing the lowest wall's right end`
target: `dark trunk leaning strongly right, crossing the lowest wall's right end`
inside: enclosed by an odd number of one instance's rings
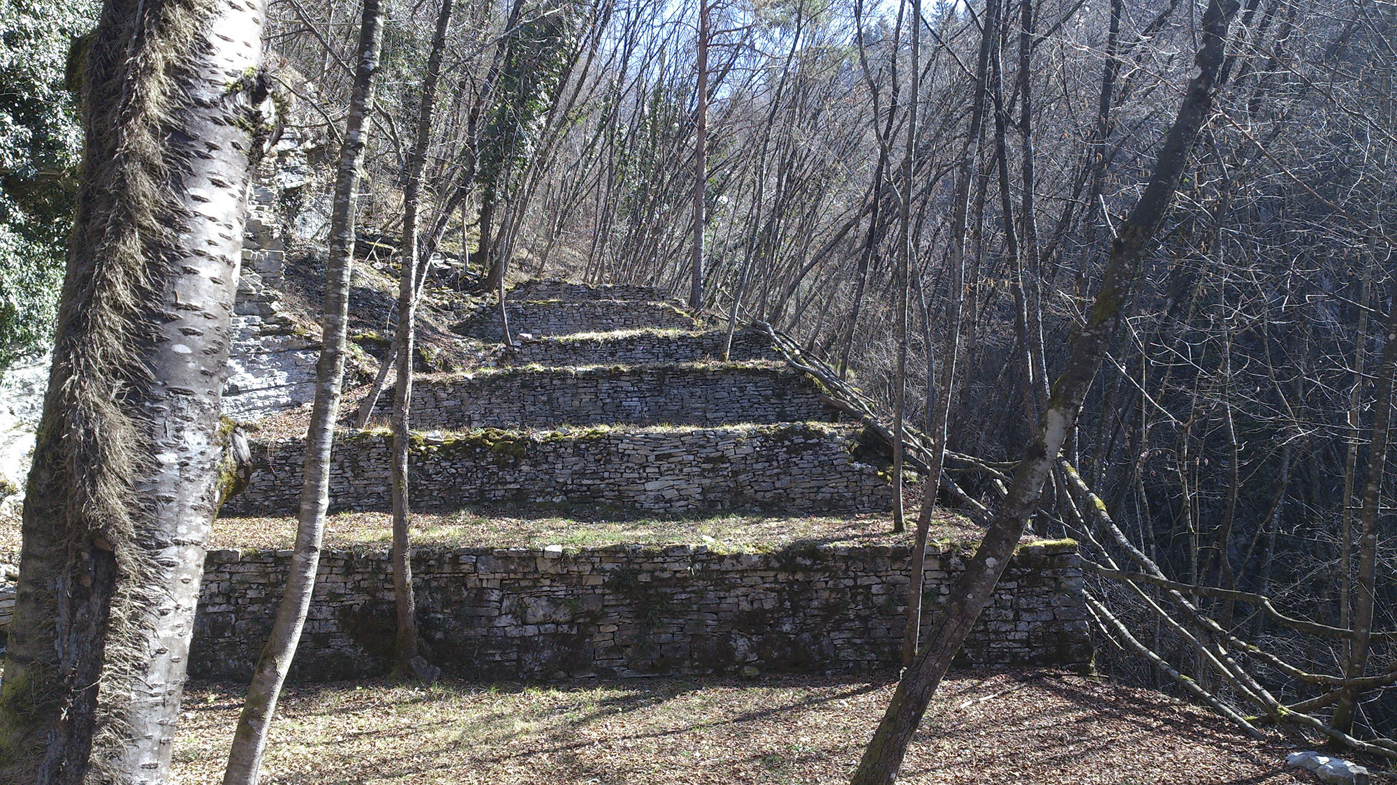
[[[1189,149],[1213,112],[1214,81],[1222,64],[1228,24],[1236,8],[1236,0],[1208,3],[1203,15],[1203,46],[1194,57],[1199,73],[1189,81],[1187,94],[1160,151],[1154,176],[1119,228],[1101,289],[1087,313],[1087,323],[1071,341],[1062,376],[1052,386],[1038,433],[1014,469],[1009,496],[985,532],[985,539],[956,581],[932,640],[898,682],[887,712],[854,774],[854,785],[891,785],[897,778],[926,705],[1014,555],[1024,525],[1038,506],[1052,462],[1077,422],[1081,402],[1106,351],[1111,325],[1130,298],[1140,260],[1154,244],[1154,236],[1179,187],[1187,168]]]

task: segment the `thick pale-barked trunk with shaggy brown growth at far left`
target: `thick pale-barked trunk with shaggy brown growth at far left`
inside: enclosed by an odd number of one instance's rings
[[[0,690],[4,782],[168,781],[268,127],[263,18],[256,1],[110,0],[91,38]]]

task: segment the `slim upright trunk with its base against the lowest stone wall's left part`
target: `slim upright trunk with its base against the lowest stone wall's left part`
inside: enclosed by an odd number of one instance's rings
[[[418,267],[418,208],[422,194],[422,169],[432,141],[432,113],[436,88],[441,75],[441,53],[446,50],[446,29],[451,24],[451,0],[441,0],[432,53],[427,56],[427,78],[422,87],[422,106],[418,108],[418,129],[408,156],[408,183],[402,190],[402,272],[398,277],[398,370],[393,399],[393,591],[398,610],[397,665],[400,676],[430,676],[418,659],[418,613],[412,595],[412,541],[408,525],[408,425],[412,408],[412,352],[416,332]],[[387,363],[387,358],[383,360]]]

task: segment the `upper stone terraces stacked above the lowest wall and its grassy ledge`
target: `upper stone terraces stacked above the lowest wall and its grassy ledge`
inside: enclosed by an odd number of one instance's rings
[[[515,292],[529,299],[514,302]],[[644,288],[538,281],[517,286],[506,303],[514,303],[507,305],[511,330],[535,331],[506,355],[515,365],[429,376],[414,394],[416,508],[507,503],[692,514],[890,507],[884,451],[866,443],[859,426],[840,423],[813,384],[771,360],[771,346],[753,332],[733,341],[742,359],[724,362],[724,331],[703,330],[696,317]],[[693,330],[671,330],[676,320]],[[598,323],[622,327],[598,332]],[[497,309],[460,325],[465,334],[492,330],[499,331]],[[534,346],[548,346],[543,362]],[[612,355],[650,362],[597,362]],[[300,439],[254,441],[251,483],[225,514],[292,514],[299,487],[286,479],[298,476],[302,453]],[[388,453],[384,432],[344,434],[334,451],[331,508],[386,510]]]

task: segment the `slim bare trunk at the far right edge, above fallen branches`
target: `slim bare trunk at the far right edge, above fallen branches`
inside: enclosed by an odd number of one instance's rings
[[[1393,285],[1397,295],[1397,284]],[[1344,662],[1344,676],[1358,679],[1368,668],[1373,634],[1373,610],[1377,592],[1377,521],[1382,510],[1383,475],[1387,471],[1387,446],[1391,441],[1393,376],[1397,376],[1397,300],[1391,300],[1387,327],[1383,330],[1383,355],[1377,366],[1373,394],[1373,429],[1368,446],[1368,478],[1363,480],[1363,506],[1358,513],[1358,575],[1354,581],[1354,638]],[[1354,726],[1358,689],[1344,687],[1334,704],[1330,725],[1343,733]]]

